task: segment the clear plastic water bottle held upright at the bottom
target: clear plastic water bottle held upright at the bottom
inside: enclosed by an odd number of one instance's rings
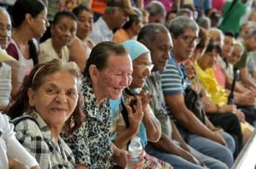
[[[131,138],[130,144],[128,147],[128,152],[131,159],[128,160],[126,169],[134,169],[137,162],[140,161],[140,153],[142,152],[142,145],[140,143],[140,138],[135,136],[134,138]]]

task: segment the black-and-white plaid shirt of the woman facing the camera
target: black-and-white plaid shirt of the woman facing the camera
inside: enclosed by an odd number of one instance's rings
[[[35,120],[21,120],[16,125],[15,130],[17,132],[16,138],[36,158],[40,168],[76,168],[73,153],[64,140],[59,138],[58,143],[56,143],[50,128],[39,114],[36,114]]]

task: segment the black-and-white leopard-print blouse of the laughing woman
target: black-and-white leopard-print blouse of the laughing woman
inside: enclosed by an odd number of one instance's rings
[[[77,163],[85,164],[90,169],[111,167],[112,146],[111,107],[109,101],[103,101],[99,107],[88,78],[82,82],[84,106],[87,120],[77,129],[72,137],[64,138],[72,149]]]

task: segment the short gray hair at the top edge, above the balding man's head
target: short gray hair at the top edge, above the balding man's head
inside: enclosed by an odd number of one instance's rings
[[[151,1],[149,5],[145,7],[145,10],[147,10],[151,16],[156,16],[158,14],[166,16],[166,11],[162,2]]]

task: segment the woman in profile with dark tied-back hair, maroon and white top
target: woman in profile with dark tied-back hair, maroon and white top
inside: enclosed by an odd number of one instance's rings
[[[49,26],[46,15],[47,9],[40,0],[17,0],[13,6],[14,32],[7,53],[21,63],[21,69],[12,70],[12,96],[38,63],[39,47],[34,38],[41,37]]]

